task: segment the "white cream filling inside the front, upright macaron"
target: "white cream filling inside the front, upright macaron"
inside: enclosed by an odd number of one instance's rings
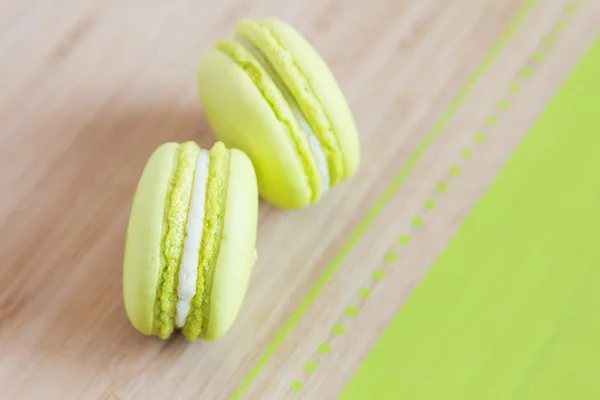
[[[204,228],[204,206],[206,203],[206,181],[208,180],[209,163],[208,151],[200,150],[196,162],[194,186],[192,187],[190,209],[185,226],[186,236],[183,241],[183,254],[179,267],[179,286],[177,288],[177,308],[175,311],[175,325],[178,328],[185,325],[192,299],[196,295],[198,257]]]

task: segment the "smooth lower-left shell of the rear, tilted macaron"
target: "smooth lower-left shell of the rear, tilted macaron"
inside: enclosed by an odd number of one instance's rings
[[[295,144],[247,73],[213,49],[200,63],[198,85],[217,138],[252,160],[261,197],[281,208],[307,206],[311,189]]]

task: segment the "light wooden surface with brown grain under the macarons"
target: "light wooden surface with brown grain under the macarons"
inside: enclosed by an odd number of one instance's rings
[[[386,195],[520,2],[0,0],[2,397],[229,398],[336,263],[243,396],[335,398],[598,33],[597,0],[579,10],[541,3]],[[263,15],[288,20],[330,64],[360,129],[360,171],[310,209],[261,204],[259,261],[223,340],[142,337],[121,297],[137,179],[165,141],[214,141],[197,63],[237,19]],[[436,191],[440,182],[447,193]],[[386,206],[360,228],[382,196]],[[437,207],[411,231],[428,199]],[[401,247],[405,232],[412,241]],[[390,249],[405,262],[369,286]],[[361,301],[365,286],[371,297]],[[351,304],[359,315],[332,337]],[[325,341],[335,348],[326,356],[317,351]],[[289,389],[296,380],[300,393]]]

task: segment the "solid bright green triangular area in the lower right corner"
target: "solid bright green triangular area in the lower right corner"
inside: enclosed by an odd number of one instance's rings
[[[600,40],[341,400],[600,399]]]

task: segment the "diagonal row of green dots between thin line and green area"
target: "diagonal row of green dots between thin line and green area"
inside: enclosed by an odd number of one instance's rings
[[[506,111],[510,109],[511,103],[508,100],[510,95],[516,95],[521,92],[522,85],[527,82],[528,78],[531,78],[535,72],[535,67],[540,65],[545,59],[547,52],[550,51],[554,45],[560,34],[567,28],[569,24],[569,20],[577,14],[579,11],[579,6],[576,4],[568,5],[562,13],[562,17],[558,20],[558,22],[551,29],[550,33],[542,40],[542,43],[537,51],[535,51],[530,57],[525,65],[517,74],[515,81],[508,88],[508,96],[507,98],[502,99],[496,106],[496,110],[499,112]],[[484,126],[486,128],[491,128],[497,125],[499,122],[499,117],[497,115],[489,115],[485,121]],[[472,147],[464,148],[461,152],[461,163],[464,164],[475,155],[475,148],[477,145],[481,145],[485,142],[487,138],[486,129],[483,129],[479,132],[476,132],[472,136],[471,145]],[[462,174],[462,167],[457,163],[452,165],[448,170],[448,177],[458,178]],[[436,192],[437,196],[433,196],[432,198],[426,200],[423,204],[423,214],[427,215],[432,212],[436,208],[436,200],[435,197],[439,197],[450,190],[450,184],[446,180],[442,180],[437,183]],[[409,232],[414,232],[419,228],[425,225],[425,218],[423,216],[416,216],[410,222],[410,227],[408,229]],[[398,244],[395,246],[400,246],[401,248],[408,247],[412,242],[412,236],[410,233],[401,234],[397,239]],[[304,364],[304,372],[306,373],[305,379],[297,379],[294,380],[289,389],[294,393],[300,393],[305,388],[307,381],[312,375],[314,375],[319,369],[318,361],[327,357],[333,351],[333,343],[335,342],[335,338],[343,335],[346,332],[346,326],[350,323],[350,321],[358,316],[362,306],[369,300],[371,297],[371,293],[376,289],[378,282],[385,279],[385,268],[390,267],[393,264],[396,264],[400,260],[400,256],[397,251],[391,249],[388,250],[387,253],[383,256],[383,267],[376,269],[371,274],[370,282],[363,287],[359,288],[357,293],[353,296],[352,304],[346,307],[344,313],[340,315],[338,318],[338,322],[336,322],[331,328],[331,333],[328,336],[327,340],[322,342],[318,348],[317,352],[315,352],[313,356],[313,360],[310,360]]]

